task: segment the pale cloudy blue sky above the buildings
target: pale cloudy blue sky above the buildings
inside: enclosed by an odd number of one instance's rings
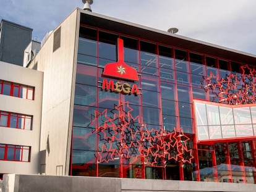
[[[0,0],[0,20],[33,28],[33,40],[48,31],[82,0]],[[256,55],[255,0],[93,0],[92,11],[162,31]]]

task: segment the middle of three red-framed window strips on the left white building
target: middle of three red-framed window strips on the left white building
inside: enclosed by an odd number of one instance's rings
[[[32,130],[32,115],[15,114],[12,112],[0,111],[0,126]]]

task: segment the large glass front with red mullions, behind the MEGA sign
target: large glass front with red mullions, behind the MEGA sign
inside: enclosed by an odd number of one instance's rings
[[[137,71],[139,81],[131,82],[102,75],[106,64],[117,62],[117,38],[124,42],[124,62]],[[207,85],[204,80],[214,75],[217,81],[231,72],[241,72],[237,69],[244,64],[233,63],[234,61],[224,58],[81,24],[70,175],[254,183],[256,139],[241,141],[234,138],[227,141],[226,138],[231,138],[232,134],[236,137],[239,131],[244,134],[244,129],[250,129],[252,133],[256,128],[255,118],[247,117],[245,109],[230,111],[227,107],[193,105],[194,99],[216,101],[215,93],[205,91],[204,86]],[[142,94],[103,90],[103,81],[136,85]],[[211,78],[211,83],[213,81],[214,78]],[[111,86],[111,83],[108,86]],[[116,87],[116,84],[113,86]],[[117,108],[121,103],[126,105],[119,110]],[[255,116],[255,107],[247,107],[246,110],[250,110],[250,115]],[[120,116],[120,113],[125,115]],[[200,114],[197,125],[194,113]],[[233,118],[231,113],[236,117],[242,114],[242,117]],[[126,119],[120,122],[116,117]],[[122,123],[128,120],[130,130],[147,127],[151,135],[153,132],[163,133],[161,138],[164,140],[159,142],[167,144],[168,150],[163,145],[163,149],[148,147],[147,154],[144,153],[145,157],[129,159],[128,155],[137,157],[136,154],[140,152],[134,145],[136,138],[143,138],[143,133],[137,131],[136,135],[124,130],[113,131],[114,126],[118,124],[122,127]],[[252,122],[248,123],[249,120]],[[242,126],[244,124],[247,124],[246,128]],[[234,125],[237,127],[232,129]],[[171,137],[169,140],[164,137],[165,133],[174,134],[179,128],[182,128],[182,131],[176,135],[175,141]],[[230,133],[226,134],[229,135],[223,136],[223,130],[227,129]],[[197,131],[200,133],[200,140],[205,143],[198,143]],[[238,132],[234,133],[235,131]],[[246,133],[247,136],[250,133]],[[129,141],[132,142],[126,151],[109,152],[113,145],[122,147],[124,144],[118,142],[124,140],[117,135],[127,138],[129,134]],[[223,138],[223,141],[220,138]],[[213,139],[219,140],[215,142]],[[145,146],[149,145],[147,140],[143,141],[145,149]],[[174,145],[177,145],[176,150]],[[155,146],[160,145],[155,143]],[[148,152],[149,149],[151,152]],[[167,159],[164,154],[166,151],[169,155]],[[156,158],[155,152],[160,156]]]

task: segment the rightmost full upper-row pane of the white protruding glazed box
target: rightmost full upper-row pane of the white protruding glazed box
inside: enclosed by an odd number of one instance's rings
[[[250,107],[234,108],[234,122],[235,124],[251,124]]]

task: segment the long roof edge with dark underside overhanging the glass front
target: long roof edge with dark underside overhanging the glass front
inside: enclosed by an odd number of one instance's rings
[[[231,61],[251,65],[256,64],[256,55],[248,52],[238,51],[236,49],[218,46],[186,36],[168,33],[167,31],[161,31],[155,28],[108,17],[106,15],[96,14],[95,12],[88,12],[87,10],[79,9],[79,11],[83,14],[81,16],[81,22],[87,25],[103,28],[109,31],[117,31],[117,33],[137,36],[142,39],[148,39],[163,44],[169,44],[170,46],[177,46],[182,49],[203,52],[210,56],[218,56],[220,58],[230,59]]]

